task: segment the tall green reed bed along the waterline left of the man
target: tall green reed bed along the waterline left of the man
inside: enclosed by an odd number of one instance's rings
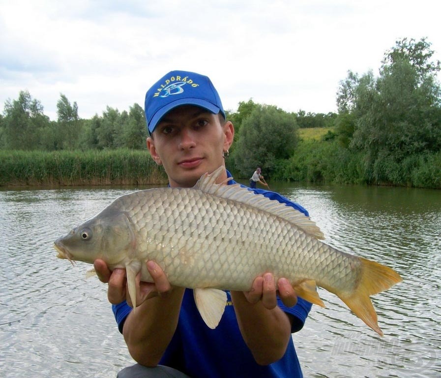
[[[0,186],[162,185],[146,150],[0,151]]]

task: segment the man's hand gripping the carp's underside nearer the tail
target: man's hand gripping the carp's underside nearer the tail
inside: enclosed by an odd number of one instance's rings
[[[297,295],[290,282],[286,278],[280,278],[277,285],[279,297],[285,306],[294,306],[297,303]],[[271,310],[277,306],[277,291],[274,276],[271,273],[265,273],[263,276],[256,277],[251,290],[244,292],[244,295],[248,302],[257,303],[262,301],[264,307]]]

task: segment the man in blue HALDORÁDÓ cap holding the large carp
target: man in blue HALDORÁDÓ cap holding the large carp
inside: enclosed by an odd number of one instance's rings
[[[206,172],[225,165],[234,126],[206,77],[172,71],[146,94],[147,148],[163,165],[171,187],[192,187]],[[229,173],[225,173],[224,180]],[[277,193],[256,189],[307,212]],[[137,279],[137,310],[126,293],[125,271],[95,270],[108,282],[108,298],[132,357],[126,377],[301,377],[291,333],[300,330],[311,304],[296,297],[288,280],[256,277],[249,292],[227,292],[224,315],[209,329],[197,313],[192,290],[172,287],[160,266],[147,261],[154,283]],[[278,295],[277,295],[278,294]]]

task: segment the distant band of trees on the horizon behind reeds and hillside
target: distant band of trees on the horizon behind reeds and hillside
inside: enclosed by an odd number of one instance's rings
[[[251,104],[251,105],[250,105]],[[252,100],[239,103],[239,112],[228,112],[240,119],[247,114],[247,107],[254,107]],[[299,127],[327,127],[333,125],[335,113],[315,114],[300,110],[294,113],[293,122]],[[239,126],[240,124],[237,124]],[[80,119],[78,105],[63,94],[57,102],[57,121],[50,121],[44,114],[40,101],[22,91],[15,100],[4,104],[0,116],[0,149],[23,151],[145,149],[147,138],[144,109],[135,103],[129,111],[107,107],[101,116],[90,120]]]

